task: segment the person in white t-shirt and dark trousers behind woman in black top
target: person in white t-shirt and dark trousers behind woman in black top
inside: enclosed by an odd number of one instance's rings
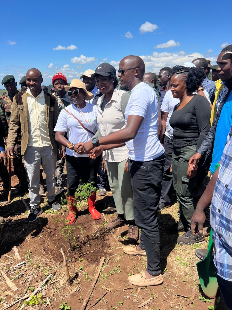
[[[163,143],[165,152],[165,166],[164,174],[162,180],[161,197],[159,202],[159,210],[168,208],[171,206],[171,200],[168,196],[170,188],[172,186],[172,174],[170,172],[170,167],[172,164],[172,140],[173,140],[173,128],[169,124],[170,117],[172,115],[174,106],[180,102],[179,99],[173,98],[171,90],[165,93],[162,105],[161,105],[161,115],[162,115],[162,126],[160,131],[160,141]]]

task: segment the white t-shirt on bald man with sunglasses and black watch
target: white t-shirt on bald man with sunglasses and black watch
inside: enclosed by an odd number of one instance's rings
[[[159,108],[155,91],[146,83],[140,82],[131,90],[125,110],[125,124],[129,115],[144,117],[135,139],[126,142],[131,160],[148,162],[164,153],[157,136]]]

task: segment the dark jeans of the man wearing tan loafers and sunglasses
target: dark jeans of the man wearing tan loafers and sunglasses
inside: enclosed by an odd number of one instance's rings
[[[140,248],[147,254],[147,272],[153,276],[161,273],[160,233],[157,222],[165,156],[149,162],[129,160],[133,190],[135,224],[141,228]]]

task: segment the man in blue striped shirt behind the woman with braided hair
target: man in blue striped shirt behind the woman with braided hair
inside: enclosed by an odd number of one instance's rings
[[[204,81],[202,82],[202,86],[208,92],[209,99],[211,103],[213,104],[213,101],[215,98],[216,85],[215,85],[215,82],[207,78],[207,70],[208,70],[207,60],[203,57],[200,57],[200,58],[194,59],[192,63],[195,64],[197,68],[200,68],[204,71],[205,78],[204,78]]]

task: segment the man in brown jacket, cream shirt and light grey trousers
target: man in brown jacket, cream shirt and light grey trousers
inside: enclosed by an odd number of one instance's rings
[[[46,174],[47,205],[53,210],[61,206],[55,201],[55,168],[58,146],[55,140],[59,108],[57,99],[41,88],[42,74],[38,69],[29,69],[26,73],[27,89],[14,96],[11,122],[7,141],[7,155],[14,158],[13,147],[17,135],[22,134],[21,154],[29,179],[31,211],[28,222],[34,222],[43,212],[40,207],[39,183],[40,163]]]

